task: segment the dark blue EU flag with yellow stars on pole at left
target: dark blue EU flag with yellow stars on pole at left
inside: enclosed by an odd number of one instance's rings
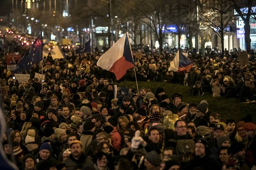
[[[33,64],[42,60],[43,53],[42,33],[33,41],[32,46],[17,63],[14,73],[29,69]]]

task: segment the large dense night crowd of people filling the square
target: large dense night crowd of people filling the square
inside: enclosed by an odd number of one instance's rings
[[[19,46],[0,45],[0,86],[7,127],[2,134],[6,159],[20,170],[250,170],[256,169],[256,124],[252,117],[225,120],[208,102],[184,103],[181,92],[157,87],[118,87],[115,75],[96,65],[102,52],[76,53],[62,48],[64,59],[49,53],[42,63],[13,79],[6,55]],[[255,100],[256,53],[241,66],[238,52],[188,50],[195,66],[188,73],[168,71],[177,49],[148,49],[134,56],[138,81],[188,86],[191,96]],[[35,73],[45,75],[41,82]],[[135,81],[127,70],[121,81]],[[135,82],[134,82],[135,83]],[[43,84],[43,85],[42,85]],[[43,87],[43,88],[42,88]]]

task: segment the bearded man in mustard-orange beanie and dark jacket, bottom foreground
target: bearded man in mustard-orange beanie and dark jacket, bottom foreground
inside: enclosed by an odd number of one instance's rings
[[[82,152],[82,143],[79,140],[74,140],[69,144],[71,154],[63,163],[67,170],[82,169],[84,166],[93,166],[93,162],[87,159]]]

